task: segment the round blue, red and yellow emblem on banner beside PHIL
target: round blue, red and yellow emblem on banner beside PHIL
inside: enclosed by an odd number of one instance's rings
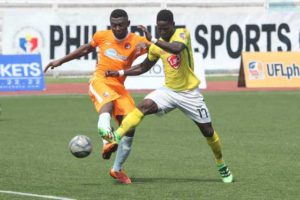
[[[37,54],[44,46],[41,32],[32,27],[23,27],[14,36],[13,47],[18,54]]]

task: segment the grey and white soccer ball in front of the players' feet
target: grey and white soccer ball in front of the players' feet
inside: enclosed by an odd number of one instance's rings
[[[92,141],[85,135],[76,135],[69,143],[71,153],[77,158],[84,158],[92,152]]]

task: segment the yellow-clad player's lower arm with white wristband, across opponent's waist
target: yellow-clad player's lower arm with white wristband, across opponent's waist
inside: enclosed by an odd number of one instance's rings
[[[150,61],[148,58],[146,58],[142,63],[132,66],[130,69],[127,70],[119,70],[119,71],[114,71],[114,70],[108,70],[105,72],[105,76],[138,76],[140,74],[143,74],[147,71],[149,71],[157,62],[155,61]]]

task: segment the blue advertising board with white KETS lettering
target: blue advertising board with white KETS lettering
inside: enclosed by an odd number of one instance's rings
[[[40,54],[0,55],[0,91],[44,90]]]

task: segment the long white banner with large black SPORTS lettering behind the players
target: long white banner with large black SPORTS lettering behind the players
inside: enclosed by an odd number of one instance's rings
[[[155,34],[156,14],[160,8],[126,8],[130,30],[138,32],[143,24]],[[195,69],[206,87],[205,70],[238,70],[243,51],[297,51],[299,49],[300,13],[214,11],[198,8],[172,8],[177,26],[185,26],[192,36]],[[45,65],[90,41],[93,32],[107,29],[107,8],[97,10],[65,9],[47,12],[6,11],[3,17],[3,53],[41,53]],[[21,18],[19,16],[22,16]],[[64,64],[62,71],[93,71],[95,54]],[[140,87],[135,81],[161,85],[161,65],[136,77],[130,88]],[[142,78],[144,77],[144,78]],[[147,77],[150,79],[147,80]],[[154,77],[154,78],[153,78]],[[131,77],[130,77],[131,78]],[[153,81],[157,78],[157,81]],[[131,80],[127,81],[128,84]],[[150,86],[148,86],[150,85]],[[144,86],[143,86],[144,87]],[[146,88],[147,88],[146,87]]]

